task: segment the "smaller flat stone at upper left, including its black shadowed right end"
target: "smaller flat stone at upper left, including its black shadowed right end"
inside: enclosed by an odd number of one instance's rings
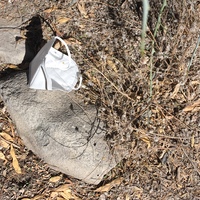
[[[30,63],[45,43],[40,17],[0,18],[0,40],[0,64]]]

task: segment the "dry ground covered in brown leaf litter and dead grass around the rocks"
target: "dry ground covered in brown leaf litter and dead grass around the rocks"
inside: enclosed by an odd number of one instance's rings
[[[163,1],[151,0],[144,54],[140,0],[0,6],[1,16],[22,19],[22,38],[38,17],[44,40],[65,39],[83,75],[77,95],[98,107],[111,151],[127,152],[101,184],[85,184],[28,151],[1,102],[0,199],[200,199],[200,1],[168,0],[161,11]]]

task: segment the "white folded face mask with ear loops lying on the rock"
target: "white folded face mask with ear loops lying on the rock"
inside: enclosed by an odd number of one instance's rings
[[[53,48],[56,40],[64,44],[68,55]],[[81,83],[82,76],[77,64],[71,58],[67,44],[57,36],[47,42],[30,63],[30,88],[70,92],[79,89]]]

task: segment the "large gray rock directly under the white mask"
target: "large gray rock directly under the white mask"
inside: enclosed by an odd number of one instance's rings
[[[17,73],[0,77],[0,95],[25,145],[50,167],[98,184],[116,165],[96,109],[73,93],[29,89]]]

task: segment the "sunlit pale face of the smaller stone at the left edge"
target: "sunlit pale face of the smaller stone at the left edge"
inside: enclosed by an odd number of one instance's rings
[[[17,42],[17,38],[21,37],[20,29],[14,28],[20,24],[20,20],[0,19],[0,64],[17,65],[23,61],[26,52],[25,40]]]

